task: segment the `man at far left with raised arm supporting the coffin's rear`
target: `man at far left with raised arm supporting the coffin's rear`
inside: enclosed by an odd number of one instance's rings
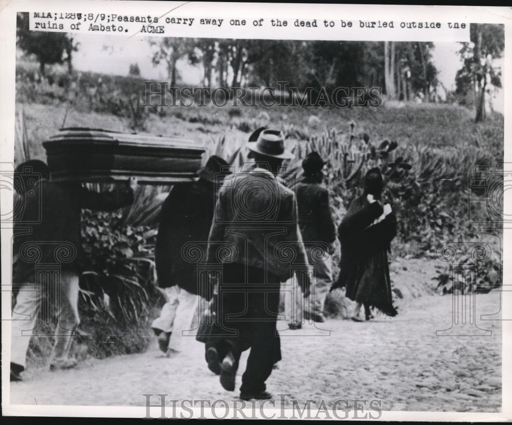
[[[83,266],[81,252],[81,210],[113,211],[133,203],[137,179],[127,187],[97,193],[80,183],[49,181],[48,166],[37,160],[20,164],[15,178],[20,182],[32,174],[38,181],[23,196],[23,209],[14,217],[13,284],[18,289],[12,310],[11,381],[21,381],[26,366],[30,336],[37,326],[41,304],[46,296],[58,295],[47,307],[57,310],[55,343],[50,370],[69,369],[77,362],[69,357],[78,316],[78,277]],[[25,187],[22,184],[20,187]],[[35,256],[35,257],[34,257]],[[36,271],[39,264],[57,264],[56,274]],[[46,306],[45,306],[46,307]]]

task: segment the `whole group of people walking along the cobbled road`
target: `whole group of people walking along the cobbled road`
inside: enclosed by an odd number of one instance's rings
[[[220,375],[220,384],[228,391],[236,387],[241,354],[250,350],[240,387],[240,397],[249,400],[271,397],[265,383],[281,360],[276,329],[281,293],[285,293],[290,329],[300,328],[304,320],[324,322],[325,298],[338,287],[346,287],[346,296],[356,302],[352,316],[356,322],[363,320],[362,306],[366,320],[372,317],[372,307],[396,315],[387,258],[396,234],[396,218],[390,204],[382,202],[380,170],[369,170],[364,193],[352,201],[337,228],[342,256],[339,278],[333,282],[336,225],[329,192],[323,185],[326,161],[311,152],[302,163],[301,178],[285,181],[279,174],[283,161],[292,159],[293,154],[285,149],[281,131],[260,128],[250,136],[247,148],[253,162],[233,172],[222,158],[211,156],[198,171],[199,180],[176,185],[163,203],[155,260],[166,302],[152,329],[168,356],[185,351],[189,341],[194,341],[187,337],[197,334],[197,340],[205,343],[208,368]],[[54,234],[59,241],[75,240],[80,208],[113,209],[133,202],[135,180],[130,187],[99,194],[81,186],[48,182],[47,168],[43,171],[37,187],[43,192],[43,203],[55,205],[50,204],[52,197],[64,204],[64,198],[73,199],[69,202],[73,213],[43,214],[44,219],[26,240],[52,240],[48,238]],[[26,204],[27,212],[30,208]],[[27,217],[22,218],[27,222]],[[23,242],[23,236],[15,239],[15,254],[23,250]],[[200,255],[190,258],[190,249]],[[37,282],[33,268],[18,263],[15,270],[19,265],[24,274],[15,275],[15,281],[25,285]],[[76,365],[67,357],[69,338],[63,343],[58,331],[67,329],[69,333],[79,322],[79,267],[72,262],[68,269],[69,278],[61,278],[60,283],[62,293],[69,296],[60,306],[53,370]],[[28,312],[34,316],[38,308],[37,297],[23,293],[17,295],[13,317]],[[11,380],[21,379],[28,347],[28,338],[22,335],[33,328],[35,322],[13,322]]]

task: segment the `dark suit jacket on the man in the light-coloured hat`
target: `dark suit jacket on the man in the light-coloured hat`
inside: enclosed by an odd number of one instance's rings
[[[224,243],[232,248],[233,263],[264,269],[286,281],[292,266],[308,265],[297,215],[293,191],[268,170],[254,165],[228,177],[208,238],[208,263],[218,262],[216,249]]]

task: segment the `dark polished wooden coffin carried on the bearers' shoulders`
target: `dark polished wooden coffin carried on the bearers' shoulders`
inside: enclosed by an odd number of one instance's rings
[[[57,182],[115,182],[130,176],[150,185],[193,181],[204,152],[191,140],[81,127],[62,128],[42,145]]]

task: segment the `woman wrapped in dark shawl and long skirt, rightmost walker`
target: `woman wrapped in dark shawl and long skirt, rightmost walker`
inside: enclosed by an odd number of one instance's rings
[[[338,227],[342,245],[340,272],[331,290],[346,287],[346,296],[356,302],[352,320],[359,318],[365,306],[366,320],[370,308],[396,316],[389,278],[388,251],[396,236],[396,217],[389,204],[382,205],[382,174],[372,168],[365,176],[364,193],[355,198]]]

